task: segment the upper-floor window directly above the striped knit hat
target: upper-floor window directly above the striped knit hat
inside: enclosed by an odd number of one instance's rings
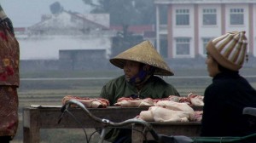
[[[243,25],[243,9],[230,9],[230,25]]]

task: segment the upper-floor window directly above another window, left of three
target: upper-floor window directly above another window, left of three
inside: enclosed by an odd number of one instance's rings
[[[176,25],[189,26],[189,9],[176,9]]]

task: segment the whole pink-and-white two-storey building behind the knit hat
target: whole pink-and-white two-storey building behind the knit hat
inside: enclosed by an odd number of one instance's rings
[[[154,0],[154,3],[156,48],[160,53],[166,50],[166,58],[205,57],[207,42],[228,31],[246,31],[247,52],[256,56],[255,0]],[[166,23],[160,20],[160,14],[167,15]]]

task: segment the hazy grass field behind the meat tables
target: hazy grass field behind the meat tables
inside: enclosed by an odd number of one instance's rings
[[[179,69],[175,76],[164,77],[167,83],[172,83],[178,92],[186,96],[190,92],[203,94],[212,78],[207,77],[206,69]],[[67,95],[97,97],[102,86],[113,77],[118,77],[122,71],[77,71],[77,72],[20,72],[19,106],[20,126],[12,143],[22,142],[22,109],[30,105],[60,106],[62,98]],[[242,76],[255,76],[256,69],[241,70]],[[46,79],[45,79],[46,78]],[[63,79],[64,78],[64,79]],[[247,78],[256,88],[256,77]],[[93,130],[88,130],[89,132]],[[41,142],[77,143],[83,142],[82,129],[42,129]],[[84,141],[85,142],[85,141]]]

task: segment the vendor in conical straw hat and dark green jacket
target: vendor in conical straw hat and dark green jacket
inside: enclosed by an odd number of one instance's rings
[[[169,95],[179,96],[172,84],[154,76],[173,76],[173,72],[149,41],[125,50],[110,62],[125,73],[102,88],[100,96],[109,100],[111,106],[121,97],[161,99]],[[116,129],[113,132],[108,141],[131,142],[131,129]]]

